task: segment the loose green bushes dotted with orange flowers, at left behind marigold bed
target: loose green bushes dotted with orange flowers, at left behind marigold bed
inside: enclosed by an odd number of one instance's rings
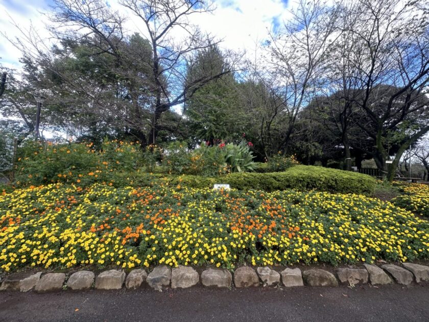
[[[87,186],[98,181],[126,184],[127,181],[121,180],[142,165],[138,147],[120,141],[104,142],[102,151],[93,149],[92,144],[29,141],[18,149],[17,155],[17,186],[54,182]]]

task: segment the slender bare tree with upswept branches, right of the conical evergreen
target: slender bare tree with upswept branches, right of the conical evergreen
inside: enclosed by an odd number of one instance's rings
[[[319,0],[300,0],[291,19],[278,33],[270,34],[271,83],[276,84],[288,116],[278,150],[287,150],[299,111],[321,86],[327,53],[341,35],[337,23],[340,8]]]

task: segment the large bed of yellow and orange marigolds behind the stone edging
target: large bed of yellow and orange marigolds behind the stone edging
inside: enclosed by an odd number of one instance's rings
[[[429,258],[429,222],[325,192],[89,188],[0,195],[0,267],[331,264]]]

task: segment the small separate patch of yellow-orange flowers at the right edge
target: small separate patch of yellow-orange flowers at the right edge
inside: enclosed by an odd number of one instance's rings
[[[401,208],[429,217],[429,185],[400,182],[396,184],[403,195],[392,199],[392,202]]]

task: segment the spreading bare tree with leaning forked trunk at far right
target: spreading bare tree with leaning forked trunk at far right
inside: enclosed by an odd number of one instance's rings
[[[359,21],[347,30],[356,44],[349,56],[364,116],[358,125],[371,137],[377,167],[392,180],[403,152],[429,130],[425,97],[429,81],[428,12],[422,1],[359,0],[348,4]],[[423,9],[421,9],[423,8]],[[406,133],[406,129],[414,131]],[[402,128],[404,131],[398,135]],[[396,131],[396,136],[393,136]],[[398,145],[388,169],[391,140]]]

